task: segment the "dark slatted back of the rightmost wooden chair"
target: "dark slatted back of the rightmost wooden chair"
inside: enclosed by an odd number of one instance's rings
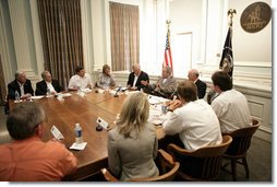
[[[252,126],[238,129],[229,133],[232,137],[232,143],[227,149],[226,154],[236,155],[238,157],[244,156],[251,145],[251,139],[258,129],[261,122],[252,119]]]

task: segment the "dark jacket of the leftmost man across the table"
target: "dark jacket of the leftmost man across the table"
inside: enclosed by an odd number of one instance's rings
[[[31,95],[34,95],[34,90],[28,79],[24,83],[23,87],[25,94],[29,93]],[[8,84],[8,100],[15,100],[15,91],[17,91],[20,93],[20,96],[22,96],[20,84],[17,83],[16,79]]]

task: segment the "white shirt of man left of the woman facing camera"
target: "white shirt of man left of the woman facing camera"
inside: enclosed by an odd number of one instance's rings
[[[88,84],[93,85],[93,81],[89,74],[85,73],[83,78],[79,74],[75,74],[70,79],[69,89],[74,89],[74,86],[86,89]]]

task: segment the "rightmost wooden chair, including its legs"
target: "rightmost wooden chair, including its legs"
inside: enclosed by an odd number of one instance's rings
[[[253,126],[234,130],[229,133],[232,137],[232,143],[227,149],[224,159],[231,160],[232,179],[237,180],[237,163],[242,164],[245,168],[245,177],[250,177],[249,165],[246,161],[246,153],[251,144],[251,139],[258,129],[261,122],[252,119]],[[222,168],[228,165],[225,164]]]

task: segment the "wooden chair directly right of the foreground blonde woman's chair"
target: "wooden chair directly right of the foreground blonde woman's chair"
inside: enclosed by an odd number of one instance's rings
[[[168,144],[169,154],[181,164],[177,174],[178,180],[216,180],[220,172],[224,153],[231,141],[232,138],[227,135],[222,137],[221,144],[208,145],[195,151],[188,151],[173,143]]]

